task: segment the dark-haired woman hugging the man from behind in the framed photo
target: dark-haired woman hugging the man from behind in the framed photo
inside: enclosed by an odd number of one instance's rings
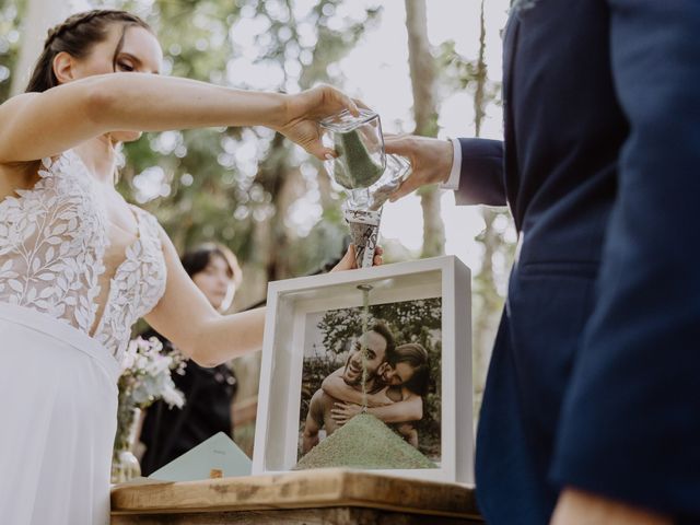
[[[378,371],[383,387],[366,394],[366,409],[362,406],[362,392],[345,383],[342,370],[335,371],[322,384],[326,394],[341,401],[331,410],[338,424],[365,411],[385,423],[394,423],[404,439],[418,448],[418,431],[412,422],[423,419],[423,396],[430,380],[428,351],[421,345],[409,342],[388,352]]]

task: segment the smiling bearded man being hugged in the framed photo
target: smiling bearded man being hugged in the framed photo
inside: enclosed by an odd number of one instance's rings
[[[364,390],[368,394],[372,394],[385,387],[380,377],[383,368],[387,366],[386,357],[394,350],[394,336],[386,326],[377,323],[362,336],[362,339],[365,347],[364,362],[366,366]],[[343,382],[359,393],[362,393],[362,348],[358,346],[348,358],[342,372]],[[326,431],[326,435],[330,435],[339,428],[339,424],[331,416],[331,410],[336,402],[338,402],[338,399],[326,394],[323,388],[318,388],[311,398],[303,432],[303,454],[306,454],[318,444],[320,429]]]

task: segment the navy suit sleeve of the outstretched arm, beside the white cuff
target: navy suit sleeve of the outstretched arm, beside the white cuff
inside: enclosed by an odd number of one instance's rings
[[[459,139],[462,167],[457,205],[505,206],[503,142],[489,139]]]

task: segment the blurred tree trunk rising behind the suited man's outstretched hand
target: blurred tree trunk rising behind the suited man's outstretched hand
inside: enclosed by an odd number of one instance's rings
[[[425,0],[406,0],[406,28],[408,30],[408,61],[413,91],[415,135],[438,135],[438,109],[434,84],[435,65],[428,40]],[[422,257],[445,253],[445,226],[440,215],[440,190],[425,187],[419,190],[423,209]]]

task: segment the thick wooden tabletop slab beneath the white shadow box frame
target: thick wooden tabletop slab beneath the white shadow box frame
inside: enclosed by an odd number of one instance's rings
[[[466,486],[342,468],[173,483],[125,483],[112,491],[115,516],[346,506],[480,520],[474,489]]]

